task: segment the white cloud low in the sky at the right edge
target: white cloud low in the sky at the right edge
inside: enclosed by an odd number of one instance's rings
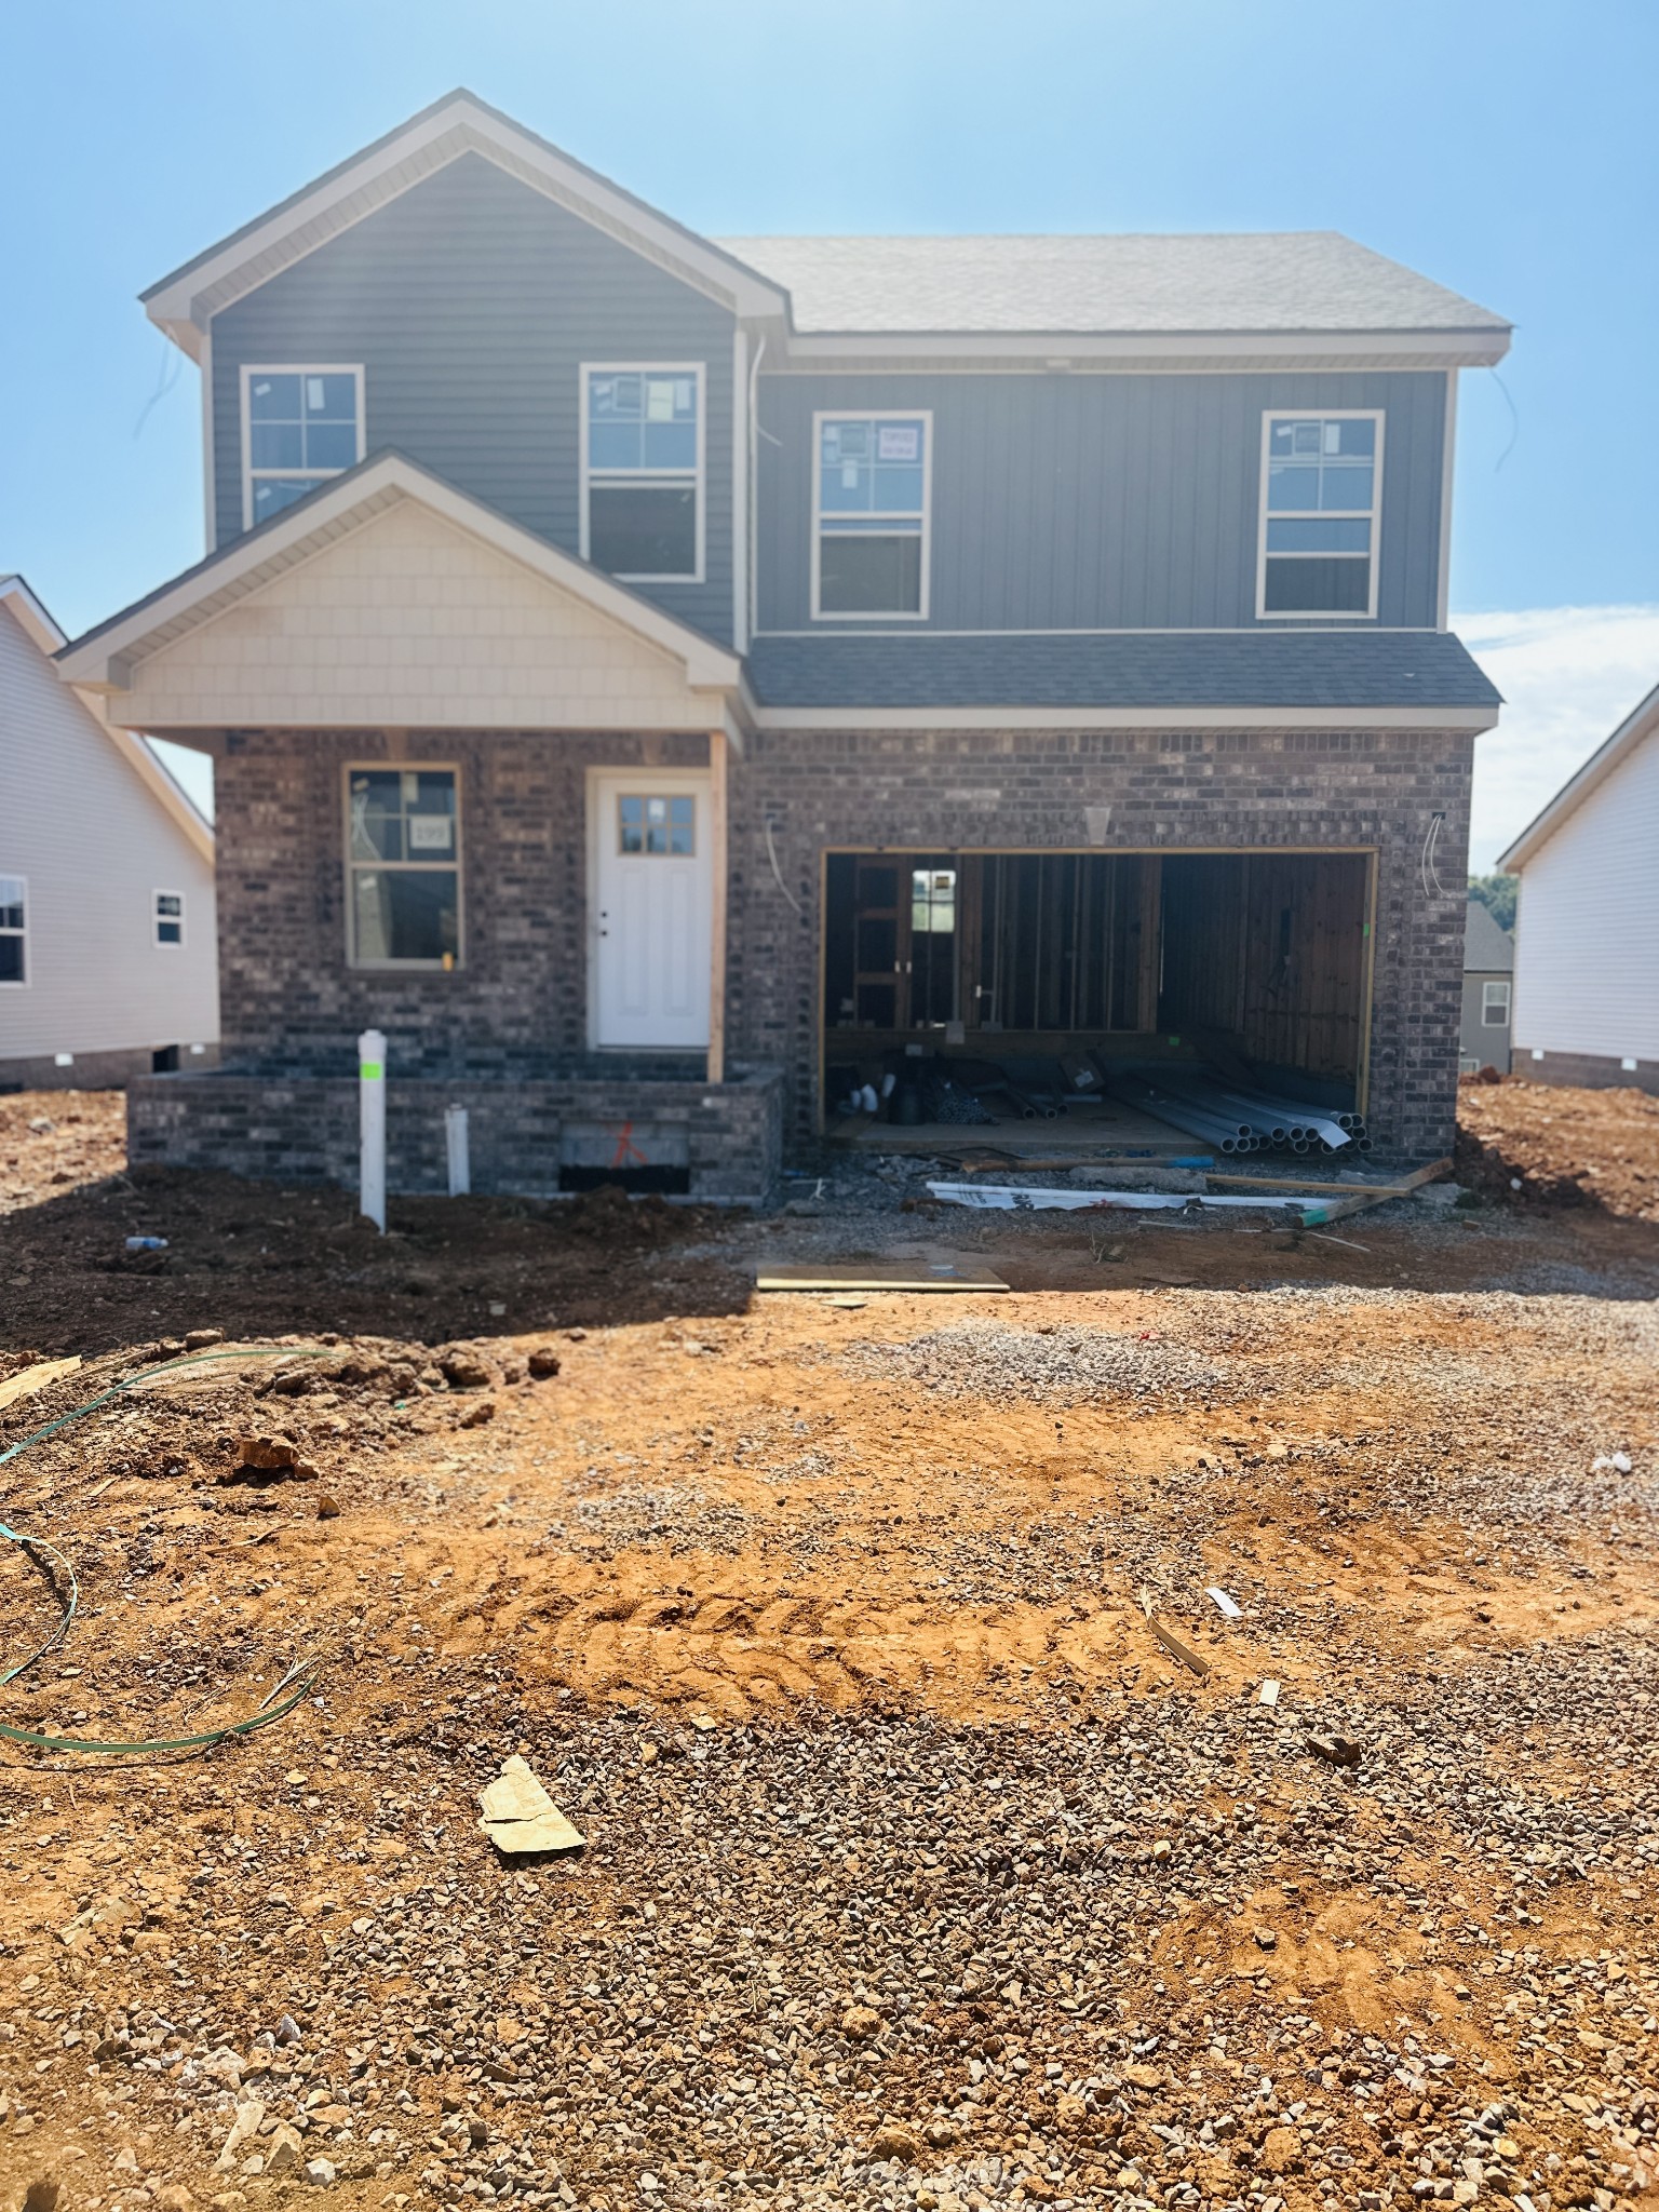
[[[1475,741],[1469,867],[1484,874],[1659,684],[1659,606],[1540,606],[1451,626],[1504,695],[1502,721]]]

